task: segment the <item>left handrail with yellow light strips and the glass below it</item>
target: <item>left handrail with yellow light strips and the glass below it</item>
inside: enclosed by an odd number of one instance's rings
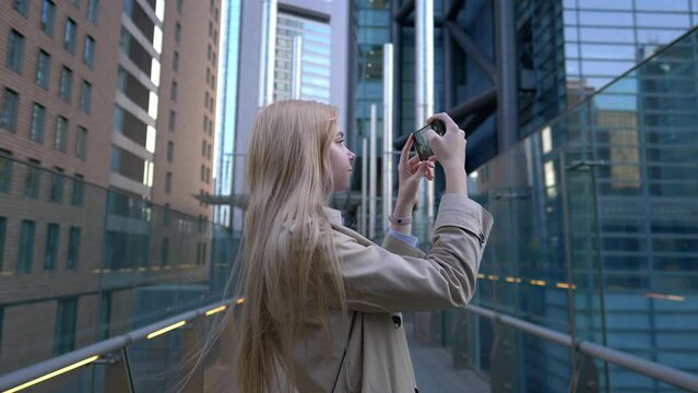
[[[227,299],[0,376],[0,391],[223,392],[235,386]]]

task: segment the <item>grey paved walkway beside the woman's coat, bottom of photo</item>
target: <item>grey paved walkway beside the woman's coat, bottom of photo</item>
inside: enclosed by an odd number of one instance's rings
[[[489,393],[487,381],[469,369],[454,369],[450,353],[423,344],[411,331],[407,329],[407,342],[419,393]]]

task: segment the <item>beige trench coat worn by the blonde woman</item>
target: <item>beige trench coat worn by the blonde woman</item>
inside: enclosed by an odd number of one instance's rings
[[[417,386],[400,312],[461,306],[472,298],[492,216],[463,195],[445,194],[425,254],[392,236],[377,246],[344,227],[340,212],[327,213],[350,314],[331,313],[329,341],[318,324],[306,324],[294,353],[297,390],[413,393]]]

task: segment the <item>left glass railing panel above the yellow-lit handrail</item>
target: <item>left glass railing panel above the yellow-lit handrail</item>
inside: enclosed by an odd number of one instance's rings
[[[220,301],[238,242],[226,227],[0,156],[0,376]],[[130,349],[135,362],[156,353]]]

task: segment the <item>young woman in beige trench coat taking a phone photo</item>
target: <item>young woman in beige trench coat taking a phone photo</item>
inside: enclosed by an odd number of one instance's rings
[[[401,311],[468,302],[492,216],[468,199],[463,131],[429,130],[435,157],[400,156],[399,193],[382,247],[344,227],[328,195],[350,187],[354,153],[338,110],[287,100],[264,108],[251,135],[242,238],[237,379],[241,392],[415,392]],[[411,216],[433,162],[446,193],[428,254]]]

